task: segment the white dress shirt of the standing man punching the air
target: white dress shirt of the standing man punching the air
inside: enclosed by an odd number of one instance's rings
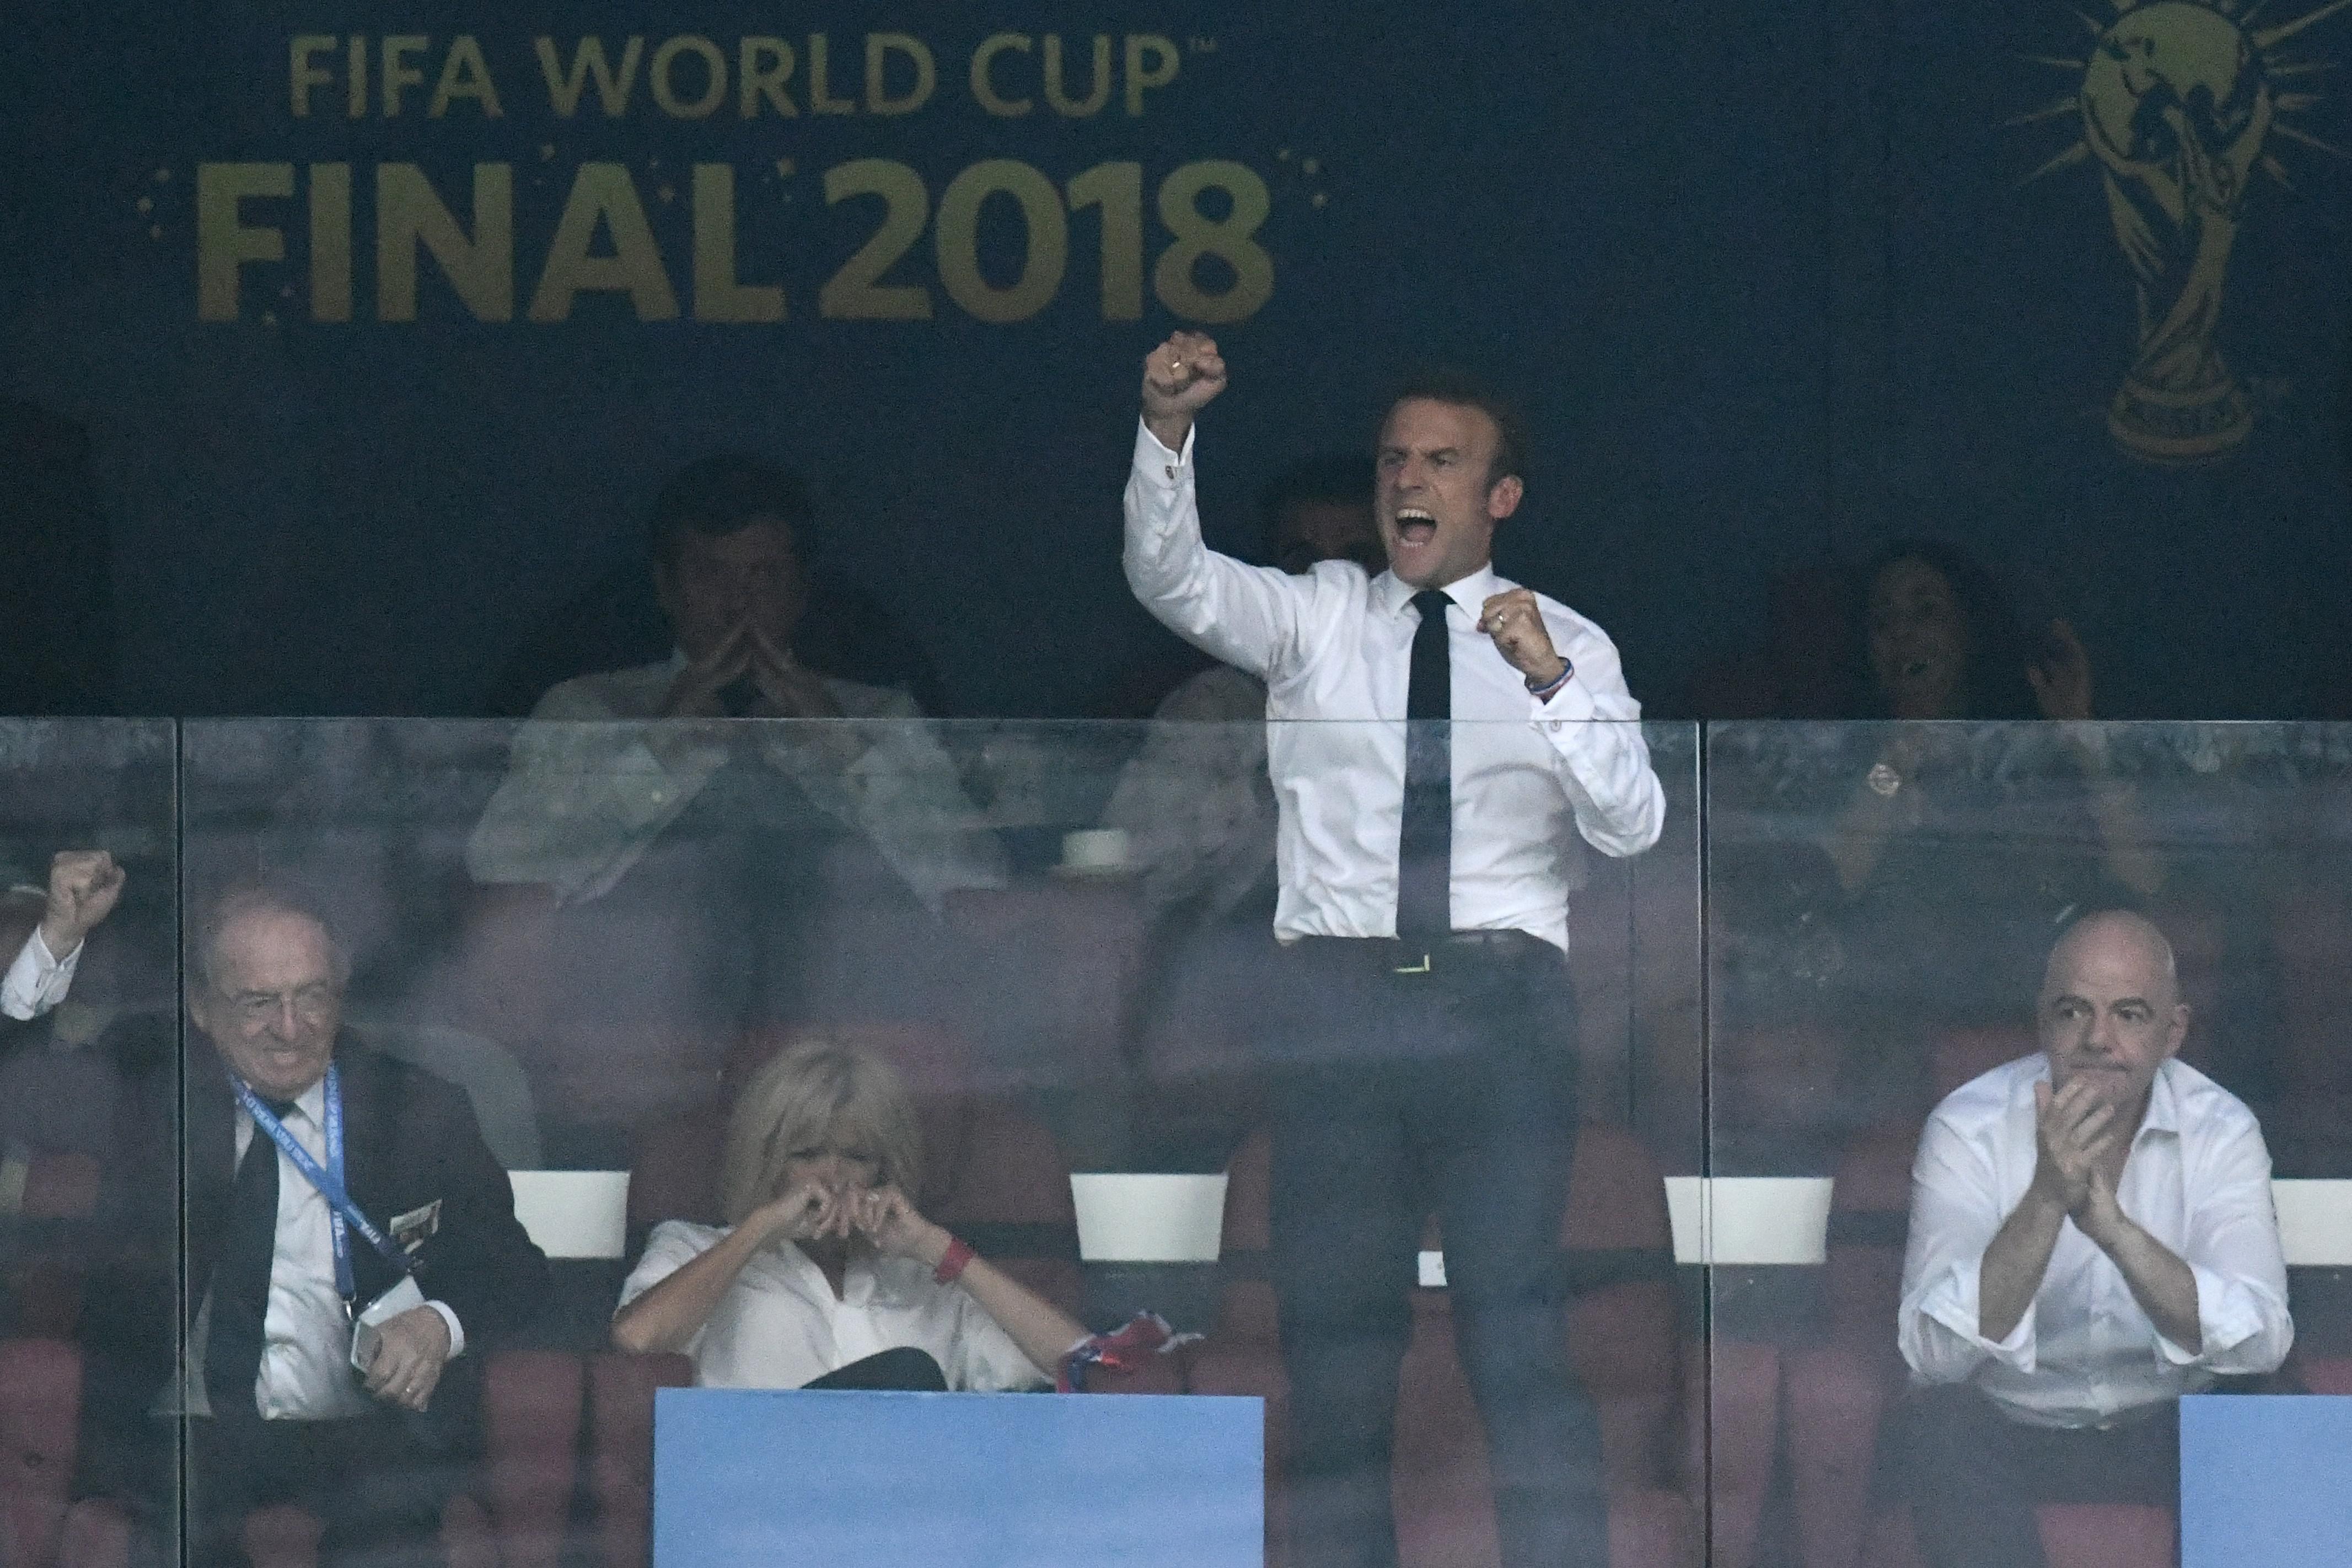
[[[1178,637],[1265,682],[1268,766],[1282,811],[1275,936],[1395,936],[1404,823],[1404,705],[1414,588],[1319,562],[1247,567],[1200,536],[1192,440],[1174,454],[1138,425],[1127,480],[1127,583]],[[1658,842],[1665,792],[1616,644],[1536,597],[1573,677],[1536,701],[1477,630],[1515,583],[1482,567],[1444,588],[1454,677],[1456,931],[1529,931],[1569,945],[1569,823],[1609,856]]]

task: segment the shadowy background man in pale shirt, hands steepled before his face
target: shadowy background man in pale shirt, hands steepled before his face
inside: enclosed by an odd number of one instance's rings
[[[557,1119],[691,1105],[750,1025],[903,1011],[936,978],[943,896],[1004,877],[915,703],[793,658],[807,522],[781,468],[720,456],[673,477],[654,505],[673,656],[548,691],[473,832],[475,882],[550,922],[543,973],[496,976],[550,1013],[487,1032],[555,1053],[539,1065]],[[699,722],[724,717],[891,724]],[[828,966],[840,933],[861,964]]]

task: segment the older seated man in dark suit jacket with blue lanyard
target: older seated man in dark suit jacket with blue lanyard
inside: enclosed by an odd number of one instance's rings
[[[191,957],[176,1382],[188,1561],[240,1563],[245,1516],[273,1502],[327,1523],[327,1561],[437,1561],[442,1505],[477,1450],[475,1347],[532,1312],[546,1258],[463,1091],[343,1032],[346,961],[320,917],[235,891]],[[329,1173],[341,1124],[343,1185],[381,1248],[346,1225],[339,1262],[334,1206],[263,1117]],[[393,1288],[388,1309],[367,1312]],[[353,1312],[383,1319],[365,1373]]]

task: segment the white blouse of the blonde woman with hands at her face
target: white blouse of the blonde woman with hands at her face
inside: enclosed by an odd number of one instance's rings
[[[663,1220],[621,1286],[621,1307],[701,1258],[724,1227]],[[793,1246],[753,1253],[691,1340],[694,1382],[715,1389],[797,1389],[884,1349],[929,1352],[950,1389],[1000,1394],[1047,1385],[1014,1338],[962,1286],[913,1258],[851,1253],[842,1295]]]

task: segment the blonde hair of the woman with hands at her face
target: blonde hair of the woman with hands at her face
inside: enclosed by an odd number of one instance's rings
[[[802,1037],[750,1077],[727,1119],[720,1159],[720,1208],[741,1225],[760,1204],[783,1197],[783,1161],[844,1128],[870,1145],[882,1182],[917,1197],[922,1124],[906,1079],[866,1046]]]

